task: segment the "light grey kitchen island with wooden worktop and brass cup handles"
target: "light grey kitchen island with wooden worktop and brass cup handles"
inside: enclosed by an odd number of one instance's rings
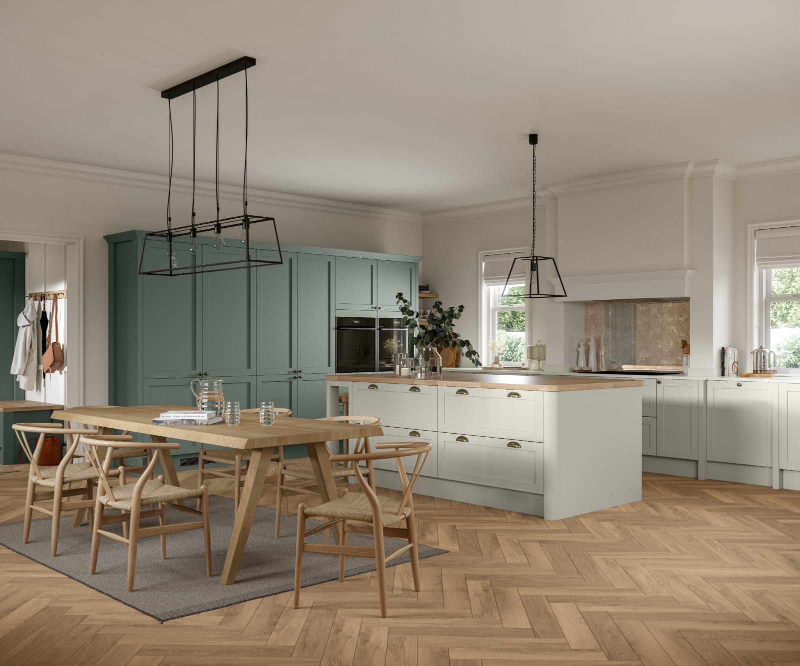
[[[641,380],[443,373],[329,375],[327,413],[380,417],[382,441],[434,445],[418,493],[558,520],[642,499]],[[397,471],[378,485],[398,488]],[[394,465],[394,461],[390,461]]]

